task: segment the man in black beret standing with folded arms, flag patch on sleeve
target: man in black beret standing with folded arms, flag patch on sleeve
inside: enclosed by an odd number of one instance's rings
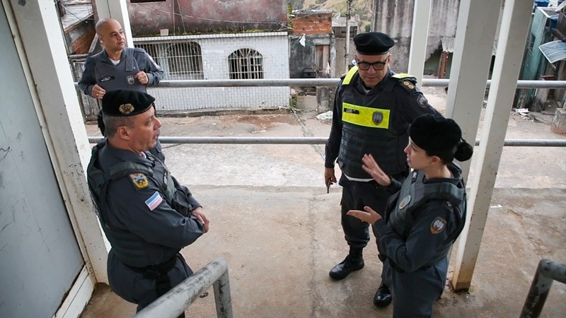
[[[112,245],[110,288],[138,311],[192,275],[180,249],[209,228],[190,190],[149,152],[161,127],[154,101],[134,90],[104,95],[108,137],[93,148],[87,169],[100,225]]]

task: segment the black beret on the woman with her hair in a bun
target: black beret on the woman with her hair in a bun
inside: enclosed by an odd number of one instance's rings
[[[462,140],[462,131],[454,119],[423,114],[412,122],[409,136],[425,151],[450,151]]]

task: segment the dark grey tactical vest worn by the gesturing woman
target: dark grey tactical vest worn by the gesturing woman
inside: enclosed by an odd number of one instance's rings
[[[458,167],[457,169],[459,170]],[[449,235],[449,240],[446,240],[446,246],[441,247],[439,252],[435,254],[437,259],[429,261],[427,266],[430,266],[437,264],[438,261],[446,257],[452,243],[463,230],[466,221],[466,188],[462,179],[458,184],[451,182],[423,183],[424,173],[422,171],[415,170],[411,173],[412,177],[405,179],[400,192],[396,194],[396,199],[393,199],[395,207],[393,210],[388,210],[391,212],[386,213],[386,222],[389,227],[397,235],[403,237],[403,240],[407,240],[415,222],[413,213],[418,212],[418,208],[427,201],[435,199],[444,200],[445,206],[452,210],[454,220],[456,220],[454,232]]]

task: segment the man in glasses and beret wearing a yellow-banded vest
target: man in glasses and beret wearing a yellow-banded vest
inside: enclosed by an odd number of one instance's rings
[[[325,183],[337,182],[335,162],[342,172],[338,182],[342,186],[341,223],[350,247],[347,257],[329,273],[337,281],[364,267],[362,251],[369,242],[369,224],[347,212],[363,211],[364,206],[384,211],[391,195],[362,169],[362,158],[371,154],[387,175],[402,182],[409,173],[403,149],[408,145],[410,123],[422,114],[439,114],[416,87],[415,77],[389,69],[389,50],[395,45],[391,37],[361,33],[354,37],[354,44],[356,66],[342,76],[337,87],[325,149]],[[385,260],[381,252],[379,259]],[[391,291],[381,283],[374,305],[386,307],[391,300]]]

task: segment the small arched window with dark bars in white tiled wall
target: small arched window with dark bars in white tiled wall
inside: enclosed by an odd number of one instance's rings
[[[263,78],[263,57],[254,49],[238,49],[228,57],[230,79]]]

